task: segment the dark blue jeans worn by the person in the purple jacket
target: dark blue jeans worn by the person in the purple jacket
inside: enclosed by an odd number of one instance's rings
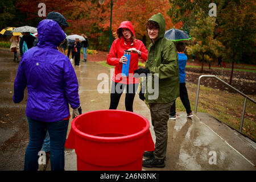
[[[24,170],[38,170],[38,152],[42,148],[44,138],[46,137],[46,131],[48,130],[49,137],[51,139],[51,170],[64,171],[64,144],[67,137],[69,119],[57,122],[36,121],[28,117],[27,119],[30,133],[30,142],[28,143],[25,153]]]

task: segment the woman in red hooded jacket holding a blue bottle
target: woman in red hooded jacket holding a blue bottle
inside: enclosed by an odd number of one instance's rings
[[[122,64],[127,59],[123,56],[125,50],[131,51],[129,76],[122,76]],[[109,109],[117,109],[120,97],[126,87],[125,108],[133,111],[133,100],[139,85],[139,78],[134,78],[134,71],[138,69],[139,58],[147,60],[147,49],[141,40],[135,39],[133,24],[129,21],[122,22],[117,28],[115,40],[110,48],[107,63],[114,65]]]

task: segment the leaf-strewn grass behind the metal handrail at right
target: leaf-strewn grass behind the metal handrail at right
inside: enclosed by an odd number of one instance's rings
[[[186,83],[191,110],[195,110],[196,84]],[[256,100],[256,96],[249,96]],[[219,90],[200,86],[199,103],[197,111],[209,113],[218,120],[228,124],[236,130],[240,130],[244,97],[237,93],[229,93],[226,90]],[[245,118],[243,121],[242,133],[252,139],[256,139],[256,105],[247,100]],[[176,111],[185,111],[180,101],[176,100]]]

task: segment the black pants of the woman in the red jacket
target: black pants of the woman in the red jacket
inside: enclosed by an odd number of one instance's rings
[[[120,97],[122,96],[123,90],[126,87],[125,109],[127,111],[133,112],[133,101],[134,101],[135,93],[138,89],[138,86],[139,84],[126,85],[126,84],[113,82],[111,86],[109,109],[117,109]]]

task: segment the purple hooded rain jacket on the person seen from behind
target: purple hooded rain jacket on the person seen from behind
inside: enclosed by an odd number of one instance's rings
[[[27,117],[56,122],[69,116],[69,105],[80,106],[79,85],[68,57],[57,50],[65,39],[59,24],[44,19],[38,24],[38,46],[28,49],[14,81],[13,101],[23,100],[27,86]]]

